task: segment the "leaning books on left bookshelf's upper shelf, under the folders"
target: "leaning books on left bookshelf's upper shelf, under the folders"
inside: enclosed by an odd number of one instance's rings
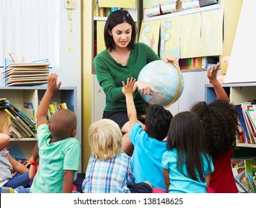
[[[0,109],[10,115],[12,137],[36,137],[36,123],[5,97],[0,99]]]

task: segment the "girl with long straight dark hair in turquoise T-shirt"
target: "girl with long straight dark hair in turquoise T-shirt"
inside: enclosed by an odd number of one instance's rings
[[[214,166],[196,114],[185,111],[173,117],[167,147],[161,162],[167,192],[206,193]]]

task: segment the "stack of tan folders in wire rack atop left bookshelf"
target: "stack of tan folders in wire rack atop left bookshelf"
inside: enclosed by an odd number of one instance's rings
[[[11,62],[2,71],[5,86],[42,85],[47,83],[49,62]]]

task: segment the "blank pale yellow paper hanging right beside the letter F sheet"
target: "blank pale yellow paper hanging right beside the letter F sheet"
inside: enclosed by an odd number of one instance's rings
[[[181,58],[201,56],[201,13],[180,16]]]

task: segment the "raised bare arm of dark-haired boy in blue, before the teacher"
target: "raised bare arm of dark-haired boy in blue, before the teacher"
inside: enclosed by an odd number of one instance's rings
[[[129,126],[132,128],[132,126],[135,123],[138,123],[138,119],[137,119],[137,111],[135,108],[135,104],[134,104],[134,100],[133,100],[133,86],[135,85],[136,79],[129,79],[127,78],[127,85],[125,85],[124,81],[123,83],[123,93],[126,97],[127,100],[127,114],[128,114],[128,118],[129,118]]]

